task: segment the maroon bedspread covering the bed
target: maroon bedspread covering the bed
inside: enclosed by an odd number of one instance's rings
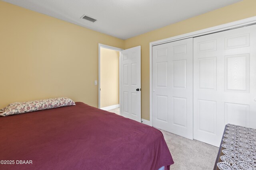
[[[19,170],[158,170],[174,163],[158,129],[82,102],[0,117],[0,160],[15,162],[0,169]]]

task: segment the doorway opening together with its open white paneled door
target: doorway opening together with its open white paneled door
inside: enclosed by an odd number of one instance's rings
[[[104,51],[116,53],[116,56],[119,53],[118,62],[116,58],[112,61],[111,57],[104,58]],[[119,113],[126,118],[141,122],[141,47],[122,50],[99,44],[98,54],[98,108]],[[113,63],[118,64],[113,66]],[[112,71],[109,72],[110,70]],[[118,76],[111,78],[112,74]],[[116,81],[117,77],[118,81]],[[114,96],[118,96],[118,98]],[[114,100],[110,101],[112,97]]]

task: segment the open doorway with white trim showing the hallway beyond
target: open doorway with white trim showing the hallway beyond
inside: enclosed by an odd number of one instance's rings
[[[119,114],[119,58],[116,47],[99,44],[98,107]]]

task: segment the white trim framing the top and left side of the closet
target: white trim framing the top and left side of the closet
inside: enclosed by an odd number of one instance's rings
[[[230,23],[225,23],[225,24],[222,24],[222,25],[217,25],[217,26],[214,26],[214,27],[206,28],[206,29],[201,29],[201,30],[198,30],[198,31],[194,31],[194,32],[190,32],[190,33],[186,33],[186,34],[182,34],[182,35],[177,35],[177,36],[166,38],[166,39],[161,39],[161,40],[158,40],[158,41],[150,42],[149,43],[150,126],[152,126],[152,47],[153,46],[160,45],[160,44],[163,44],[163,43],[170,43],[172,41],[178,41],[178,40],[182,40],[182,39],[186,39],[186,38],[192,38],[192,37],[198,37],[198,36],[207,35],[207,34],[211,34],[211,33],[217,33],[217,32],[220,32],[220,31],[227,31],[229,29],[244,27],[244,26],[253,25],[253,24],[256,24],[256,16],[246,18],[246,19],[243,19],[243,20],[230,22]]]

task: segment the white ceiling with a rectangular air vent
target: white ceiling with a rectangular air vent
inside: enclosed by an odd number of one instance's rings
[[[127,39],[241,0],[4,1],[120,39]],[[81,19],[84,14],[97,21],[92,23]]]

